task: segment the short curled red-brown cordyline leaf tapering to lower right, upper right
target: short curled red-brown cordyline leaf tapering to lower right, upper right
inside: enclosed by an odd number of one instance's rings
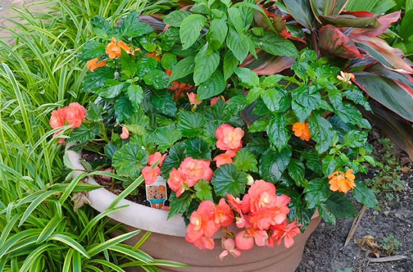
[[[318,35],[322,56],[336,55],[346,59],[364,58],[354,42],[332,25],[321,28]]]

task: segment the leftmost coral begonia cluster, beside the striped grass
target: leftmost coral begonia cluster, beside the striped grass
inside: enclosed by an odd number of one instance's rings
[[[80,127],[83,119],[86,117],[86,109],[79,104],[78,102],[70,103],[68,106],[61,109],[60,107],[57,110],[51,112],[50,117],[50,126],[51,128],[59,128],[65,125],[67,121],[68,125],[71,125],[72,128]],[[54,136],[60,131],[54,133]],[[59,139],[59,143],[65,143],[65,139]]]

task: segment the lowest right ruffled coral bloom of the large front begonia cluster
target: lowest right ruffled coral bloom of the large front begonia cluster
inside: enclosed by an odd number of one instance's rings
[[[284,238],[284,245],[286,248],[291,247],[294,244],[294,236],[300,233],[299,226],[301,224],[296,224],[297,220],[289,223],[287,225],[286,221],[283,221],[281,224],[272,226],[273,230],[272,236],[268,238],[266,245],[274,247],[274,243],[278,241],[278,245],[281,244],[281,238]]]

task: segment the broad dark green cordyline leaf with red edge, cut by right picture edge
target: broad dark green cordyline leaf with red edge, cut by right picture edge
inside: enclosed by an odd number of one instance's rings
[[[353,72],[354,82],[371,98],[404,119],[413,121],[413,78],[374,64]]]

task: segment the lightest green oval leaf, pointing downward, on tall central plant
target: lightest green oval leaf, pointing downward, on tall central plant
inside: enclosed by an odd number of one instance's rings
[[[183,49],[190,48],[197,41],[205,22],[206,17],[199,14],[191,14],[183,19],[179,34]]]

